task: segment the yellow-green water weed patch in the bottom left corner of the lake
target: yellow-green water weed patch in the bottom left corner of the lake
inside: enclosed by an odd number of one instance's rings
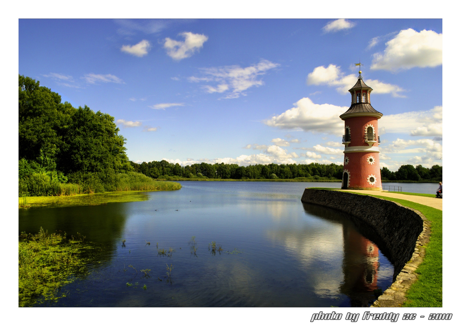
[[[19,236],[19,307],[31,307],[45,301],[56,302],[65,297],[62,286],[75,277],[88,274],[87,263],[95,246],[84,237],[70,239],[64,233],[37,234],[21,232]]]

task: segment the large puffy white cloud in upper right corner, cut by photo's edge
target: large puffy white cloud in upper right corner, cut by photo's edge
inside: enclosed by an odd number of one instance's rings
[[[401,30],[386,42],[384,53],[374,53],[371,69],[387,71],[442,65],[442,33],[433,30]]]

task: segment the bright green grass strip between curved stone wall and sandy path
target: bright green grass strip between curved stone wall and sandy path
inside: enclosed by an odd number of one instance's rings
[[[431,238],[426,246],[426,256],[416,270],[418,280],[408,290],[403,307],[442,307],[442,211],[403,199],[372,194],[364,196],[391,200],[417,209],[431,221]]]

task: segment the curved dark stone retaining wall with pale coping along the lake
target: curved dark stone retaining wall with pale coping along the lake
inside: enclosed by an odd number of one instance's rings
[[[371,227],[379,246],[394,265],[394,283],[373,303],[373,307],[398,307],[417,278],[414,273],[429,242],[429,222],[424,215],[398,203],[343,191],[306,188],[301,202],[334,208],[353,215]],[[385,248],[382,248],[382,246]]]

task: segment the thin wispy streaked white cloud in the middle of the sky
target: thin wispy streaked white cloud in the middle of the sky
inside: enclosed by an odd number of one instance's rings
[[[245,90],[253,86],[261,86],[264,82],[258,79],[266,71],[278,67],[279,64],[268,60],[260,60],[259,63],[242,68],[238,65],[202,68],[201,77],[189,77],[189,82],[215,82],[216,85],[206,85],[204,89],[207,93],[224,93],[227,91],[225,98],[237,98]]]

